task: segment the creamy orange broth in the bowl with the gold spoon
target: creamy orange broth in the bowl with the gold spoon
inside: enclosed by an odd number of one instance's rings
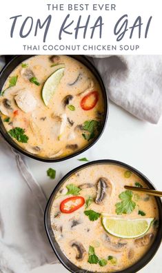
[[[117,210],[116,204],[121,202],[119,194],[126,191],[124,185],[148,188],[139,176],[130,171],[118,165],[100,164],[73,174],[57,192],[50,212],[52,230],[62,252],[81,269],[92,272],[123,270],[136,263],[150,249],[159,219],[156,200],[153,196],[132,192],[132,201],[135,203],[132,212],[117,214],[119,208]],[[74,186],[79,188],[78,192]],[[73,194],[67,194],[67,190],[71,190]],[[85,203],[74,210],[79,205],[79,199],[74,201],[76,196],[84,199]],[[73,201],[65,203],[65,199],[70,197]],[[66,210],[74,211],[67,213]],[[122,219],[152,218],[152,222],[143,236],[124,239],[113,236],[103,228],[101,215],[97,220],[91,221],[85,214],[89,210]],[[96,264],[92,263],[90,254],[97,256]]]

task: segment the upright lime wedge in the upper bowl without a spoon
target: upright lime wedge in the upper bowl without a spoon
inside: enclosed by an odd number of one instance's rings
[[[55,70],[52,75],[45,81],[42,89],[42,98],[47,106],[50,99],[53,97],[54,92],[57,90],[57,86],[59,85],[63,74],[64,74],[65,68],[59,68]]]

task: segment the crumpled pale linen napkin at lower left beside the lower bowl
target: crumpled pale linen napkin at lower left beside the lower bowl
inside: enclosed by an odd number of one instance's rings
[[[0,272],[26,273],[58,260],[43,224],[47,202],[23,159],[0,138]]]

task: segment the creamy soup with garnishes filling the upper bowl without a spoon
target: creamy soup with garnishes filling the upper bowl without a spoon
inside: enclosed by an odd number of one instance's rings
[[[54,94],[48,94],[52,88]],[[104,103],[100,85],[85,65],[67,56],[35,56],[8,77],[0,110],[3,125],[21,148],[58,158],[97,137]]]

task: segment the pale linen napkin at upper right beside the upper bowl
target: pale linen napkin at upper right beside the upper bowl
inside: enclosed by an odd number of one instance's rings
[[[158,123],[162,113],[162,56],[93,57],[109,98],[135,117]]]

